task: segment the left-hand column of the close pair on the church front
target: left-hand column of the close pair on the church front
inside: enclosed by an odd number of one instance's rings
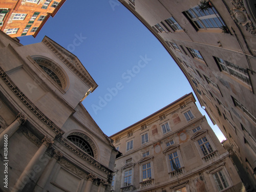
[[[35,177],[35,174],[36,174],[36,172],[34,170],[34,168],[36,167],[35,165],[36,165],[38,159],[42,155],[44,155],[44,153],[46,152],[47,148],[49,146],[51,146],[52,143],[53,143],[53,141],[50,140],[50,138],[47,137],[47,136],[45,136],[45,138],[42,139],[41,146],[38,148],[38,150],[35,153],[35,155],[32,157],[32,159],[29,161],[29,163],[27,164],[27,166],[23,170],[22,175],[19,176],[18,180],[16,181],[16,184],[14,185],[14,187],[11,190],[12,192],[22,191],[22,189],[27,184],[27,182],[29,180],[32,180]]]

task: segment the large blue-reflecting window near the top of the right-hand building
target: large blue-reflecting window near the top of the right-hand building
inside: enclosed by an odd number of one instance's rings
[[[194,24],[197,30],[214,29],[225,26],[223,20],[214,7],[211,7],[209,10],[200,11],[197,6],[185,11],[184,14]]]

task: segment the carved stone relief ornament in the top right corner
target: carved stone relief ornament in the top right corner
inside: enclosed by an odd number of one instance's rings
[[[246,27],[246,30],[251,33],[251,35],[256,34],[256,27],[252,24],[249,15],[247,14],[246,9],[244,8],[243,0],[234,0],[231,2],[234,6],[230,9],[230,15],[233,20],[238,24]]]

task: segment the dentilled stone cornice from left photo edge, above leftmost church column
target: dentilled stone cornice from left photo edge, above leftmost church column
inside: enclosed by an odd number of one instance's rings
[[[31,102],[22,91],[20,91],[10,77],[4,72],[0,67],[0,76],[5,81],[7,86],[12,90],[12,92],[23,102],[24,105],[35,115],[38,119],[44,122],[51,130],[53,130],[57,135],[63,135],[63,132],[54,122],[52,122],[44,113],[42,113],[33,102]]]

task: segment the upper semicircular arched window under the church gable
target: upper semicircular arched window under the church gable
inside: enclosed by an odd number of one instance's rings
[[[61,69],[49,59],[42,57],[33,57],[34,61],[42,70],[44,70],[51,79],[58,84],[59,87],[65,89],[67,87],[67,79]]]

